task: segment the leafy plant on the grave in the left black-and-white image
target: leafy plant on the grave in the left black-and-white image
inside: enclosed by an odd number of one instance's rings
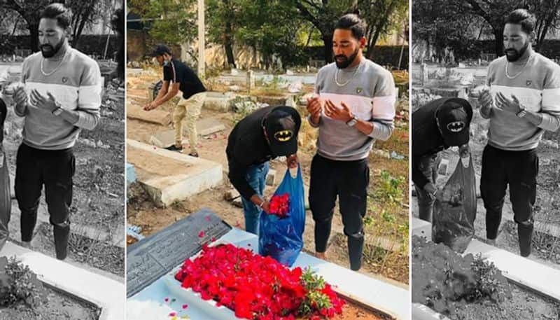
[[[37,275],[15,257],[0,257],[0,305],[23,302],[31,308],[45,303],[46,291]]]

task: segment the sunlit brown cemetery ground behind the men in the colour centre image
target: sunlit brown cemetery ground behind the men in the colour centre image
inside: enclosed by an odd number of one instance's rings
[[[134,71],[134,72],[132,72]],[[229,71],[228,71],[229,72]],[[307,78],[314,78],[314,74],[307,73]],[[316,72],[316,71],[315,71]],[[228,73],[229,74],[229,73]],[[295,77],[298,76],[296,73]],[[144,69],[129,69],[127,71],[127,109],[138,108],[148,101],[149,86],[158,81],[159,71],[151,67]],[[307,116],[302,104],[306,95],[313,92],[312,83],[303,83],[300,90],[290,94],[288,84],[282,84],[277,76],[270,81],[255,81],[255,88],[248,94],[244,84],[232,85],[231,76],[225,73],[214,74],[205,81],[211,92],[232,92],[237,97],[236,102],[253,99],[271,105],[284,104],[286,99],[293,99],[293,106],[300,111],[302,119]],[[395,78],[407,79],[406,73],[397,73]],[[406,90],[401,90],[406,92]],[[248,98],[250,96],[250,98]],[[301,102],[301,103],[300,103]],[[174,102],[164,104],[159,109],[172,113]],[[240,104],[237,104],[238,106]],[[254,105],[254,104],[253,104]],[[202,193],[178,200],[167,207],[156,206],[139,183],[132,183],[127,195],[127,223],[141,228],[141,235],[148,236],[165,228],[167,225],[179,221],[190,213],[207,207],[220,216],[225,222],[237,228],[244,229],[243,210],[240,199],[230,201],[225,194],[232,190],[228,181],[228,162],[225,156],[225,146],[232,127],[250,112],[239,108],[237,112],[232,108],[228,111],[212,110],[204,106],[201,120],[212,118],[225,127],[219,132],[211,133],[199,138],[199,153],[202,159],[218,162],[223,166],[223,181],[214,188]],[[171,125],[148,123],[127,118],[127,139],[151,144],[151,136],[158,132],[172,130]],[[309,169],[311,159],[316,152],[317,132],[306,121],[302,121],[300,130],[298,158],[304,176],[306,197],[309,188]],[[188,144],[186,144],[188,148]],[[370,186],[368,188],[367,215],[365,217],[366,245],[364,249],[363,267],[360,272],[371,277],[382,277],[393,283],[405,286],[408,283],[408,98],[402,95],[398,101],[395,130],[388,141],[377,141],[374,151],[370,155]],[[267,186],[265,194],[270,196],[283,179],[286,165],[282,159],[272,160],[270,168],[276,171],[273,186]],[[228,197],[230,198],[230,197]],[[307,202],[307,199],[306,199]],[[237,205],[236,205],[237,203]],[[304,232],[304,251],[314,253],[314,222],[311,211],[306,212],[306,226]],[[127,239],[127,244],[135,240]],[[337,265],[349,267],[346,247],[346,237],[342,232],[342,219],[338,208],[332,222],[332,233],[327,251],[327,260]]]

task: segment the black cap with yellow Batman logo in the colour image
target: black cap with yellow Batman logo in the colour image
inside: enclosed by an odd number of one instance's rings
[[[270,151],[276,156],[297,153],[297,133],[302,120],[290,106],[276,106],[265,118]]]

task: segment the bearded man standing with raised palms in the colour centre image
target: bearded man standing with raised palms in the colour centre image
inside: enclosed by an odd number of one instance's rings
[[[340,18],[332,38],[335,63],[319,70],[316,97],[307,101],[309,123],[319,131],[309,187],[316,256],[325,258],[338,196],[352,270],[362,260],[367,158],[376,139],[391,137],[396,99],[391,73],[363,57],[364,34],[357,15]]]

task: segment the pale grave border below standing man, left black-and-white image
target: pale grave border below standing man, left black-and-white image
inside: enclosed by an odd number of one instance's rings
[[[16,256],[29,266],[39,280],[48,286],[97,305],[99,320],[122,320],[125,317],[125,285],[97,273],[80,269],[42,253],[6,242],[0,256]]]

